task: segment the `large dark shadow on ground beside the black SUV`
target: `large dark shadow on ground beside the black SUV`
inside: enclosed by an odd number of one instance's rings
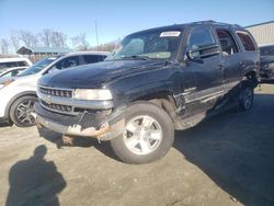
[[[243,205],[274,205],[274,95],[178,131],[174,147]]]

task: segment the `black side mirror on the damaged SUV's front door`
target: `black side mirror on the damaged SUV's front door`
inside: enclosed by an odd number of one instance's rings
[[[218,44],[210,44],[199,46],[198,48],[191,49],[186,52],[186,57],[189,60],[197,60],[206,57],[215,56],[220,53]]]

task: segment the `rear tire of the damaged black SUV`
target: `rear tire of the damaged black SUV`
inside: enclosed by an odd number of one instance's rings
[[[242,85],[239,93],[239,110],[240,112],[252,108],[254,100],[254,88],[251,84]]]

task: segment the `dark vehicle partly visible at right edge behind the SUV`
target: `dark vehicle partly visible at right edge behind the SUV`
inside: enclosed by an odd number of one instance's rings
[[[260,76],[262,80],[274,80],[274,45],[261,46]]]

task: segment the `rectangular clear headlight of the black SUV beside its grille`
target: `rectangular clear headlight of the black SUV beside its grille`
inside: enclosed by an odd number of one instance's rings
[[[76,89],[77,100],[112,100],[112,93],[106,89]]]

